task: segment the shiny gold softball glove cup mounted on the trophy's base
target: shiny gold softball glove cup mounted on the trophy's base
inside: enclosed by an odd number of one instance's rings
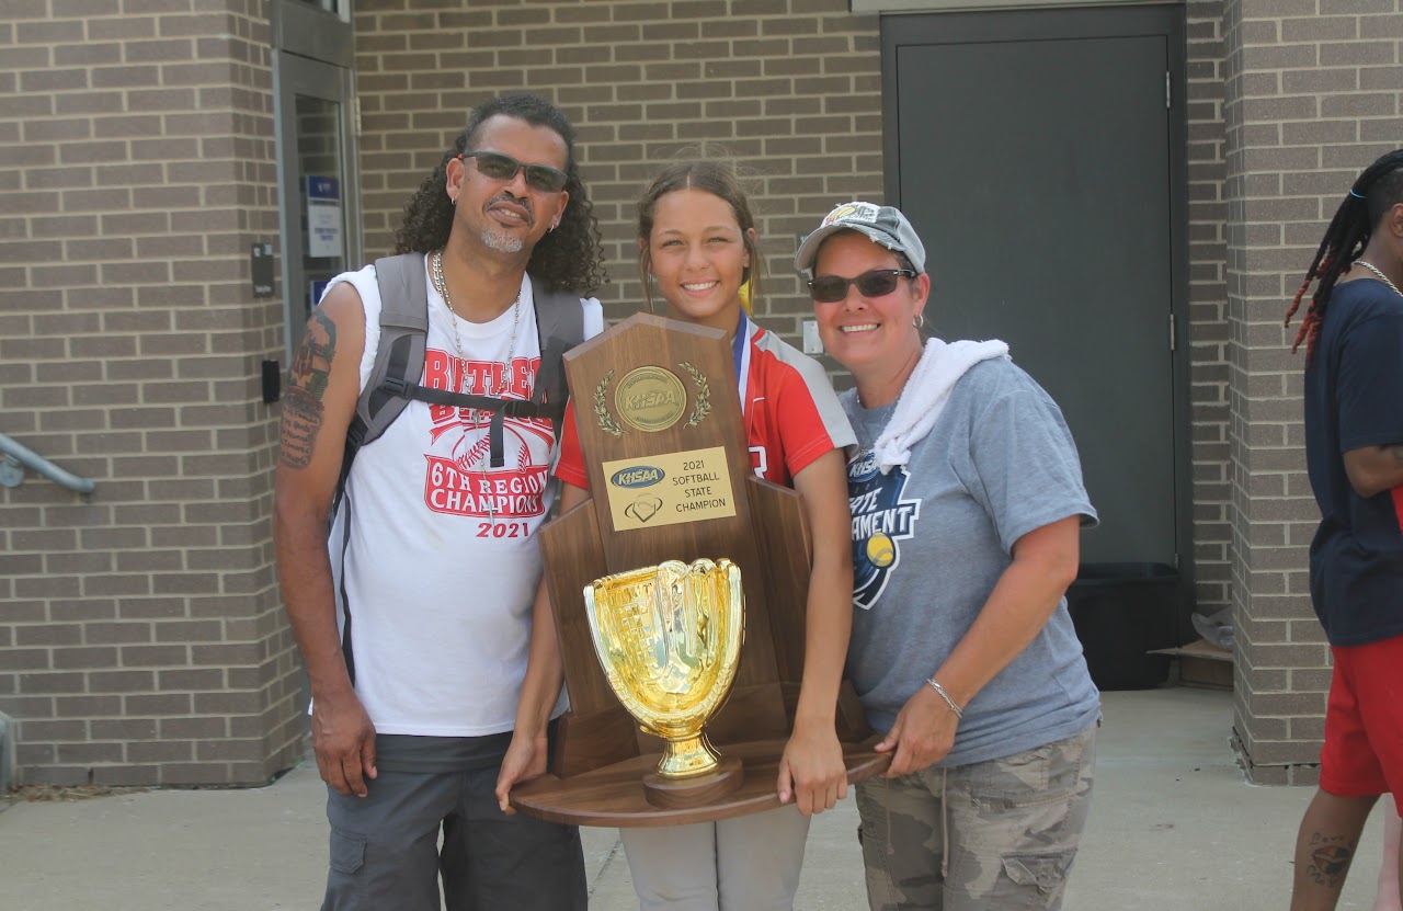
[[[666,560],[585,588],[595,654],[619,702],[666,747],[644,796],[657,807],[696,806],[741,786],[739,759],[707,741],[745,639],[741,568],[724,557]]]

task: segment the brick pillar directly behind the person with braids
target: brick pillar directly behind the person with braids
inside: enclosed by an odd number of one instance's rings
[[[1256,780],[1310,783],[1330,671],[1308,587],[1303,352],[1282,314],[1354,175],[1403,135],[1403,15],[1395,0],[1229,0],[1223,22],[1235,727]]]

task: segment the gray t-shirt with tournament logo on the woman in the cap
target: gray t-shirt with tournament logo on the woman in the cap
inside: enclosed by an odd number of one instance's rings
[[[905,467],[871,448],[895,406],[843,408],[853,510],[853,639],[847,674],[885,731],[974,623],[1023,535],[1080,515],[1094,525],[1072,434],[1056,403],[1006,359],[972,366]],[[1100,717],[1082,646],[1058,605],[1047,626],[969,705],[940,765],[967,765],[1078,734]]]

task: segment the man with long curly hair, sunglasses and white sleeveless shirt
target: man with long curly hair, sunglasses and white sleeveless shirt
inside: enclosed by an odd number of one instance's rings
[[[506,816],[494,793],[502,765],[546,769],[564,710],[558,663],[526,678],[530,654],[554,654],[533,618],[556,435],[532,408],[563,406],[537,394],[560,357],[544,327],[603,328],[578,298],[603,270],[565,117],[529,94],[477,107],[397,253],[333,279],[283,396],[275,540],[328,787],[323,908],[438,911],[442,886],[449,911],[584,911],[578,830]],[[412,319],[382,320],[415,295]],[[398,389],[382,365],[415,338],[422,373],[361,448]]]

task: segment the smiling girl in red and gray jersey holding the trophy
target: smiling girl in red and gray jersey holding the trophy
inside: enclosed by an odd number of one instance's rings
[[[727,333],[752,467],[804,496],[814,540],[804,677],[776,782],[786,806],[718,823],[622,830],[644,911],[790,911],[810,816],[847,794],[835,712],[852,629],[843,446],[854,438],[822,366],[760,328],[742,306],[744,286],[759,295],[759,265],[751,205],[727,164],[673,164],[640,199],[638,271],[650,310],[655,288],[671,319]],[[567,421],[556,467],[563,511],[588,497],[572,431]],[[504,764],[502,799],[512,775]]]

